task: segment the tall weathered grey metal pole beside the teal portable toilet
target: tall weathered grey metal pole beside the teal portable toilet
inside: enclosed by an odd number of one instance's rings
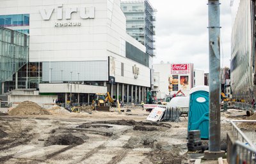
[[[209,151],[220,151],[220,3],[208,0]]]

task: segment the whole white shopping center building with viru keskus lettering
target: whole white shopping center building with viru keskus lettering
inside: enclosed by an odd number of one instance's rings
[[[107,91],[123,101],[145,100],[152,66],[145,46],[126,33],[119,0],[1,1],[0,24],[29,33],[29,63],[18,82],[28,77],[18,88],[62,101],[72,93],[72,101],[90,102]],[[6,92],[8,81],[2,86]]]

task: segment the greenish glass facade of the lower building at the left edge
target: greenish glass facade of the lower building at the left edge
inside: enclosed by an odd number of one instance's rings
[[[0,82],[12,80],[12,75],[28,61],[29,36],[0,27]]]

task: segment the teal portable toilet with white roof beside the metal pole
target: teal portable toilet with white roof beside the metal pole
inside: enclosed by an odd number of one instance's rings
[[[200,130],[200,137],[209,138],[209,86],[196,86],[189,92],[188,131]]]

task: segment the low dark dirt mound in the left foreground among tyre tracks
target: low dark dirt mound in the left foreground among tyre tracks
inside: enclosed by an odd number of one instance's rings
[[[63,135],[52,135],[44,143],[45,146],[48,145],[79,145],[83,144],[84,140],[80,137],[76,137],[71,133]]]

